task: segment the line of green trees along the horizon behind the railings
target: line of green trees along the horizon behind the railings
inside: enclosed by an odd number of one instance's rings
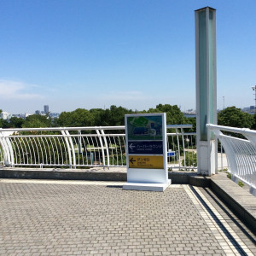
[[[0,113],[2,110],[0,109]],[[195,131],[195,118],[186,118],[177,105],[159,104],[156,108],[143,111],[111,106],[107,109],[78,108],[72,112],[62,112],[60,117],[52,119],[48,115],[32,114],[26,119],[12,117],[0,119],[0,128],[38,128],[38,127],[81,127],[81,126],[116,126],[125,125],[127,113],[166,113],[168,125],[192,124]],[[244,113],[240,108],[229,107],[218,113],[218,125],[256,130],[256,114]]]

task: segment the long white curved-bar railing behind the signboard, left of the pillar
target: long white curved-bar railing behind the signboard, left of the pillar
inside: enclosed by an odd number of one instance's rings
[[[173,131],[167,133],[172,170],[196,169],[195,133],[183,131],[191,127],[167,125]],[[0,129],[1,163],[40,168],[126,166],[125,126]]]

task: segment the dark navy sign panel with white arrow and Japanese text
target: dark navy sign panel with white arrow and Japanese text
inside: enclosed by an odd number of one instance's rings
[[[129,154],[163,154],[162,141],[129,141]]]

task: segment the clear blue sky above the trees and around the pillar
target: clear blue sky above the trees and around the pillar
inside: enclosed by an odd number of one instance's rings
[[[0,109],[195,108],[194,11],[206,6],[218,108],[254,105],[255,0],[2,0]]]

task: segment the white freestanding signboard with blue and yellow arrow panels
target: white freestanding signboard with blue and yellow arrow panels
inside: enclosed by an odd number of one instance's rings
[[[166,113],[126,114],[125,139],[127,184],[123,188],[130,188],[130,183],[158,183],[158,188],[160,184],[166,188],[170,184],[167,172]]]

